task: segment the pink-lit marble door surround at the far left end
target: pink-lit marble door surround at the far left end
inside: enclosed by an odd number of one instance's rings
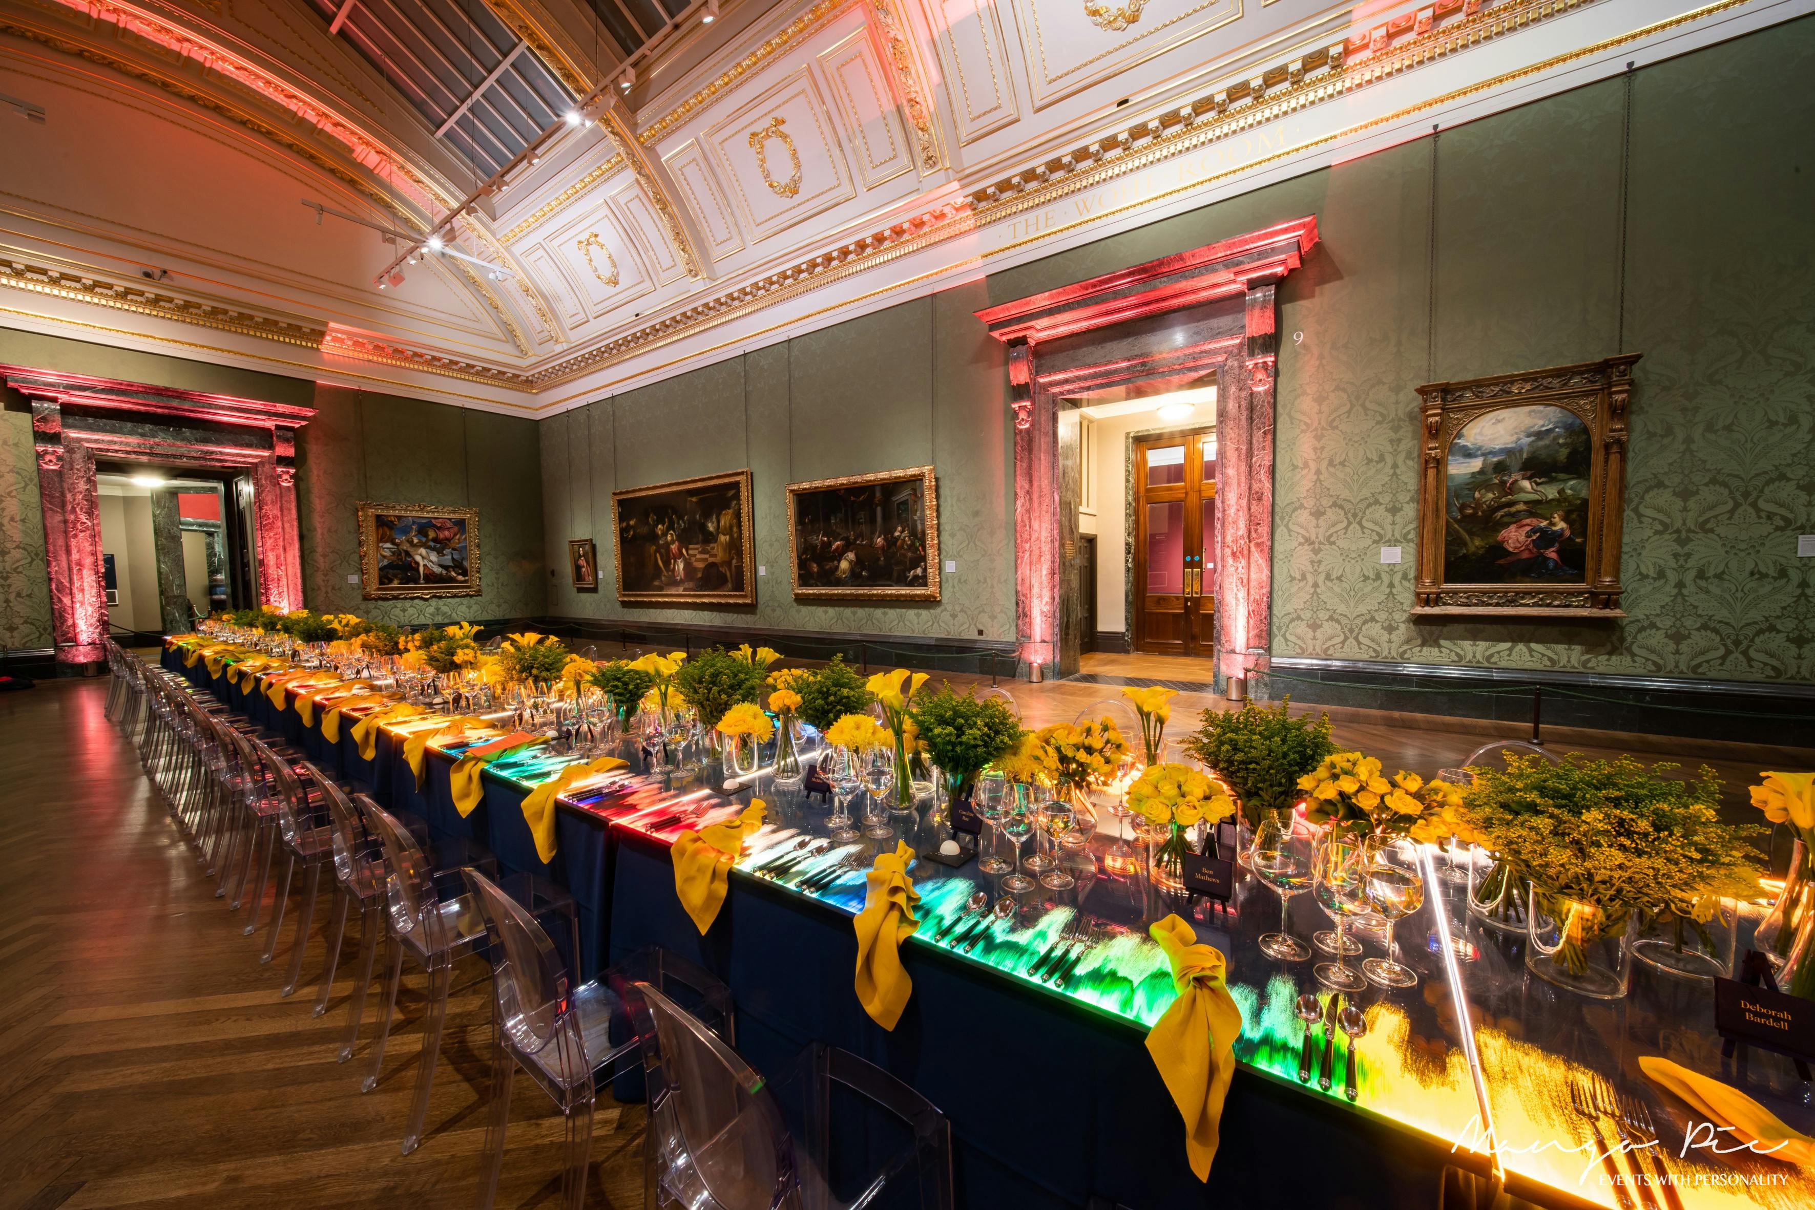
[[[303,606],[296,430],[314,408],[11,365],[0,365],[0,377],[31,408],[58,664],[93,666],[105,655],[96,457],[249,475],[258,600]]]

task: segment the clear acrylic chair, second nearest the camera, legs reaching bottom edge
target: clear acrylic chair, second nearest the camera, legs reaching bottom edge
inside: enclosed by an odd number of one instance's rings
[[[479,1206],[497,1195],[505,1163],[510,1092],[523,1069],[561,1108],[566,1166],[561,1199],[586,1203],[592,1107],[597,1079],[639,1067],[643,1050],[626,994],[661,987],[699,1010],[721,1036],[731,1036],[731,992],[713,974],[659,949],[630,954],[599,980],[572,987],[548,932],[517,900],[485,874],[466,869],[466,885],[485,907],[492,942],[492,1107],[485,1128]]]

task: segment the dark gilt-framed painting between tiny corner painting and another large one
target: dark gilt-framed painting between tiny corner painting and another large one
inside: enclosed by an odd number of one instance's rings
[[[755,604],[750,472],[612,492],[617,599]]]

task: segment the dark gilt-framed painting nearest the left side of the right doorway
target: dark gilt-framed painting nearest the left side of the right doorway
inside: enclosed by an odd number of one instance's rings
[[[788,484],[797,599],[938,600],[931,466]]]

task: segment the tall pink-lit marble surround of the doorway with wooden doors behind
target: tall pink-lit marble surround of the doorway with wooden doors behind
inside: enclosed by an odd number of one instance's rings
[[[1211,374],[1216,684],[1267,668],[1274,290],[1316,243],[1316,218],[1292,220],[976,312],[1009,356],[1022,675],[1078,671],[1076,421],[1065,423],[1067,397]]]

